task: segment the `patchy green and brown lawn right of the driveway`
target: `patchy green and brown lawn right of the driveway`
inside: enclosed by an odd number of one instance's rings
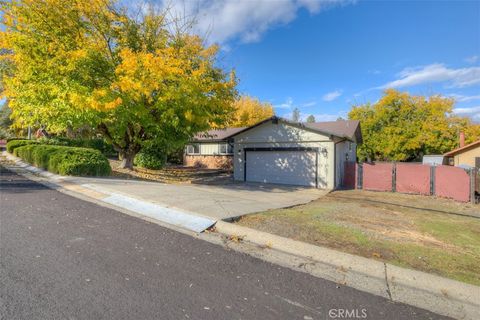
[[[479,205],[336,191],[306,205],[245,216],[237,223],[480,285]]]

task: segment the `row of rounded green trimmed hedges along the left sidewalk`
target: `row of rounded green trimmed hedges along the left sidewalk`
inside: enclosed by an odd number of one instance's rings
[[[106,176],[112,171],[98,150],[44,144],[15,148],[13,154],[53,173],[71,176]]]

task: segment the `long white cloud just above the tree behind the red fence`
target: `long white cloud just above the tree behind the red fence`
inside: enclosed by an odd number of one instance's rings
[[[446,82],[449,87],[462,88],[480,84],[480,67],[450,69],[434,63],[423,67],[406,68],[398,74],[399,79],[377,89],[410,87],[426,83]]]

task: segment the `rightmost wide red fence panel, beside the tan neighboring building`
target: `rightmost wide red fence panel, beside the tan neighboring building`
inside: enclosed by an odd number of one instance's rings
[[[437,166],[435,168],[435,195],[457,201],[470,201],[470,176],[462,168]]]

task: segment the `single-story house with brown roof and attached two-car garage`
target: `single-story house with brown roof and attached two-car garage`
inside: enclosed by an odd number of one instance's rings
[[[192,164],[192,156],[204,163],[223,156],[233,161],[236,181],[334,189],[343,180],[345,161],[356,161],[361,141],[355,120],[307,123],[274,116],[195,137],[186,147],[185,164]]]

